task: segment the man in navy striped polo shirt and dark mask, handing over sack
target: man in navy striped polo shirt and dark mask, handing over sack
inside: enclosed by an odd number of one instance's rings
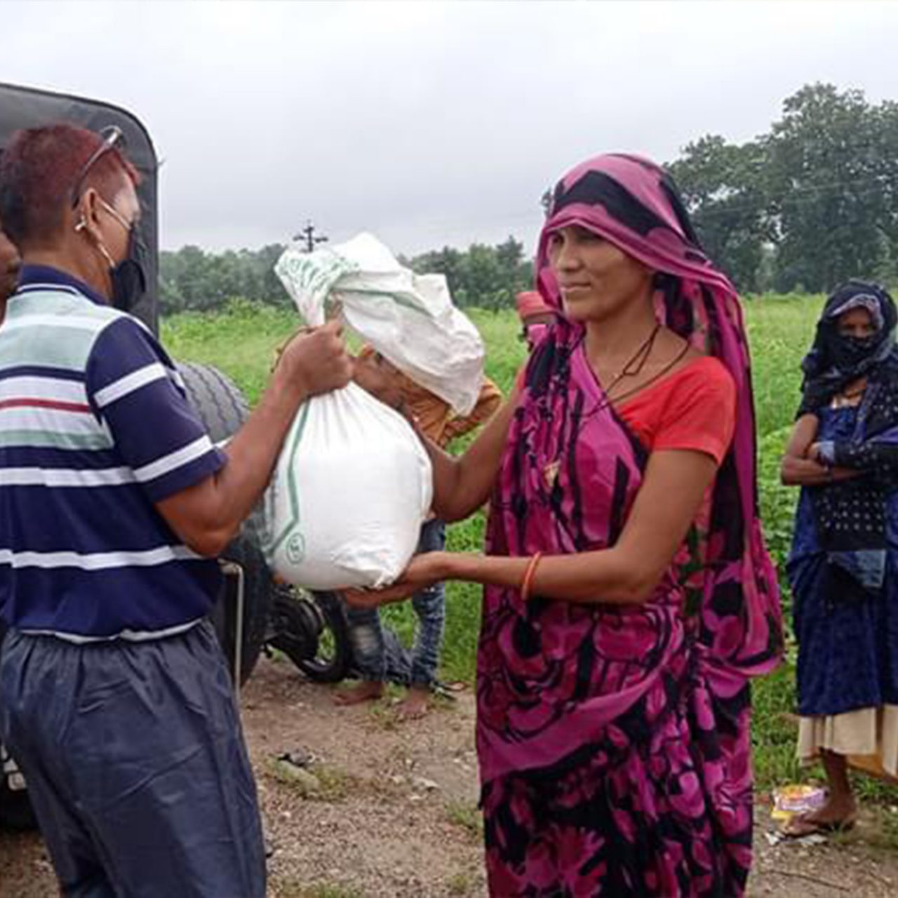
[[[19,132],[0,161],[24,261],[0,326],[0,739],[62,894],[261,898],[255,786],[205,621],[214,557],[298,405],[351,362],[336,324],[295,338],[212,445],[121,311],[142,286],[136,178],[114,134],[71,126]]]

